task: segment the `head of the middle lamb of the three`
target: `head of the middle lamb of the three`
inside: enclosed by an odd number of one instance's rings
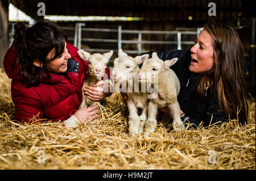
[[[112,70],[112,79],[115,82],[126,81],[133,77],[139,71],[139,64],[148,58],[148,54],[137,56],[135,58],[128,56],[122,51],[118,50],[118,57],[114,60],[114,68]]]

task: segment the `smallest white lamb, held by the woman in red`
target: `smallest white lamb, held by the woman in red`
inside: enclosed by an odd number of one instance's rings
[[[101,77],[105,74],[106,65],[108,64],[110,58],[113,55],[113,50],[108,53],[100,54],[94,53],[90,54],[84,50],[78,50],[79,56],[86,60],[89,64],[89,71],[85,75],[84,85],[82,86],[82,103],[80,108],[85,107],[85,105],[92,105],[94,103],[100,103],[94,100],[90,100],[84,92],[85,86],[93,86],[96,82],[101,80]]]

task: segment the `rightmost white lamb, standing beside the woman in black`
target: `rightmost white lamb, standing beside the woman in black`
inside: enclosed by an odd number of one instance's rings
[[[139,80],[154,84],[157,91],[153,91],[148,103],[148,117],[145,124],[145,129],[149,132],[154,132],[156,128],[156,115],[158,108],[168,107],[170,115],[174,119],[172,125],[174,130],[182,130],[183,122],[180,119],[180,106],[177,102],[177,95],[180,91],[180,82],[175,72],[170,69],[178,58],[172,60],[160,60],[158,55],[152,53],[152,58],[143,62],[142,68],[139,71]],[[146,132],[146,134],[149,134]]]

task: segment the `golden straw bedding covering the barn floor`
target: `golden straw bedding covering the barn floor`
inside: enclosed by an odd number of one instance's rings
[[[159,122],[150,136],[133,137],[118,94],[101,107],[100,121],[65,128],[16,123],[2,70],[0,87],[0,169],[255,169],[255,98],[244,127],[231,120],[175,132]]]

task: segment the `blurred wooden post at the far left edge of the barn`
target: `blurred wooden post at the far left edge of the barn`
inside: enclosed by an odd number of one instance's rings
[[[0,0],[0,68],[8,49],[9,0]]]

